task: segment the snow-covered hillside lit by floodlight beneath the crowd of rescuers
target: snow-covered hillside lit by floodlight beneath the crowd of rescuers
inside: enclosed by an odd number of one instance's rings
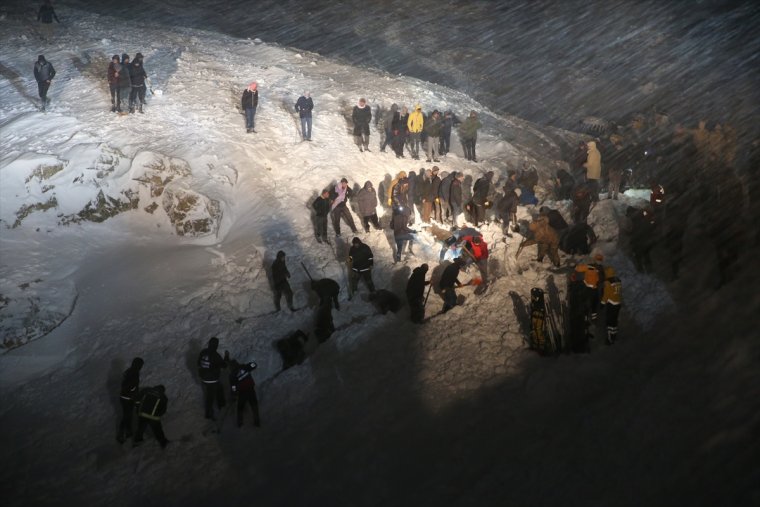
[[[499,116],[456,90],[255,40],[127,20],[114,33],[115,20],[79,11],[67,21],[52,45],[16,16],[0,22],[0,328],[4,343],[23,344],[0,356],[9,505],[760,502],[754,313],[732,305],[731,320],[673,318],[686,312],[674,301],[705,283],[636,274],[618,252],[615,217],[646,197],[635,192],[591,215],[598,249],[625,281],[615,347],[597,339],[591,355],[558,359],[525,350],[509,292],[527,301],[531,287],[553,283],[564,293],[574,259],[563,257],[558,272],[531,261],[534,248],[515,260],[519,236],[504,243],[494,225],[483,231],[495,278],[484,296],[464,289],[464,306],[413,326],[406,309],[378,315],[360,286],[361,297],[334,312],[332,338],[275,377],[272,342],[312,328],[315,300],[299,263],[345,287],[347,246],[313,239],[317,192],[343,176],[377,188],[430,166],[379,153],[374,129],[373,151],[359,153],[345,119],[358,97],[373,109],[480,111],[484,161],[464,161],[454,138],[439,164],[473,180],[525,160],[548,172],[558,143],[577,136]],[[124,51],[145,55],[156,94],[144,115],[108,111],[105,70]],[[31,77],[42,53],[58,71],[46,114]],[[256,134],[237,110],[251,80],[261,90]],[[302,143],[292,106],[307,89],[314,141]],[[110,210],[139,204],[100,223],[77,219],[101,192]],[[188,220],[208,218],[208,233],[177,233],[169,215],[188,196]],[[413,267],[437,264],[427,232],[416,256],[396,265],[390,231],[361,236],[378,287],[401,294]],[[271,314],[266,268],[280,249],[294,314]],[[688,311],[715,315],[729,293],[756,307],[756,285],[737,285]],[[440,306],[431,295],[428,314]],[[204,436],[195,360],[214,335],[233,357],[258,362],[261,429],[238,430],[230,417],[221,435]],[[164,452],[150,439],[134,450],[114,440],[120,375],[137,355],[142,384],[167,386],[173,443]]]

